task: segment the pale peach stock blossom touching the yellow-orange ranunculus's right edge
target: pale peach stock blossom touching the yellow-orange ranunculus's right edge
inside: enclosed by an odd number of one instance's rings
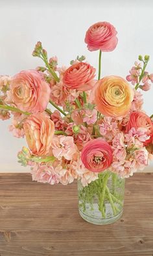
[[[140,111],[143,106],[143,94],[140,91],[134,90],[134,100],[132,101],[132,105],[130,107],[130,111]]]

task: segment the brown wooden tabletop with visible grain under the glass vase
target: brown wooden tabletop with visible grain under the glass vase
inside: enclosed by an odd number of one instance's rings
[[[0,174],[1,256],[152,256],[153,173],[126,180],[124,214],[97,226],[78,214],[77,184]]]

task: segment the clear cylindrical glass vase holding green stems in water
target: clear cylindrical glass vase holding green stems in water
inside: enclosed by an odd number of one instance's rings
[[[83,187],[78,180],[78,209],[80,216],[89,223],[113,223],[123,214],[124,178],[104,171],[99,178]]]

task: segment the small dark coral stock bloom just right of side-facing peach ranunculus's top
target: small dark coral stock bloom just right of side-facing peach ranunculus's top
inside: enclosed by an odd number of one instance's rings
[[[51,114],[51,120],[54,122],[55,130],[65,131],[67,128],[67,122],[62,119],[60,112],[55,110],[53,114]]]

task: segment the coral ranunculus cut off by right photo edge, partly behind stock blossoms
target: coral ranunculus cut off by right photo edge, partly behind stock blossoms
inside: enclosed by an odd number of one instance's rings
[[[150,143],[153,137],[153,122],[148,115],[141,111],[135,111],[130,114],[130,119],[126,126],[126,132],[129,132],[130,129],[135,128],[146,128],[146,134],[150,136],[150,139],[147,139],[145,143]]]

